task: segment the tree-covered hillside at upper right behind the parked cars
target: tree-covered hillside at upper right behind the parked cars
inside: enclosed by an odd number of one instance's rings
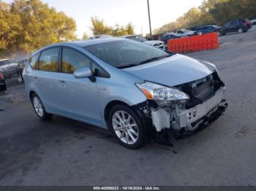
[[[237,18],[256,18],[256,0],[204,0],[200,7],[189,9],[175,22],[154,30],[154,34],[212,23],[222,25]]]

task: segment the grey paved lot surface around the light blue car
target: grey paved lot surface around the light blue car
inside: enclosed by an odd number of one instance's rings
[[[174,147],[121,147],[108,131],[53,117],[40,122],[23,85],[0,93],[0,185],[256,185],[256,28],[189,53],[216,63],[229,109]]]

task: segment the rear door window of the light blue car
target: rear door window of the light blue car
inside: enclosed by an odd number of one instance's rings
[[[45,50],[39,58],[39,70],[58,71],[59,47]]]

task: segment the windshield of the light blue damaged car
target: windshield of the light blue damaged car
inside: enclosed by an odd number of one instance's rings
[[[156,47],[130,40],[105,42],[84,48],[118,69],[138,66],[172,55]]]

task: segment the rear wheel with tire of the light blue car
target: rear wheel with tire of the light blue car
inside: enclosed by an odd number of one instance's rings
[[[34,112],[37,114],[37,117],[39,117],[40,120],[49,120],[50,117],[52,117],[52,114],[45,112],[45,107],[36,93],[31,95],[31,104],[34,108]]]

